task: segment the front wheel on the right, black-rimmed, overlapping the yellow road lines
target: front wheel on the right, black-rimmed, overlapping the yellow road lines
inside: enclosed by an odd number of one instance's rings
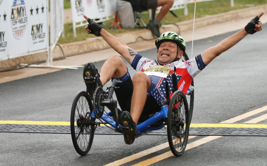
[[[185,95],[175,91],[168,108],[167,135],[173,155],[180,156],[185,151],[189,134],[189,115]]]

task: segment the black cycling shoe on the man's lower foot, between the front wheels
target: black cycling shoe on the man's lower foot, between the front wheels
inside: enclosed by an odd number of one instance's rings
[[[128,111],[122,111],[119,120],[121,126],[129,127],[129,129],[122,130],[125,143],[128,145],[134,143],[136,137],[136,124],[133,121],[131,114]]]

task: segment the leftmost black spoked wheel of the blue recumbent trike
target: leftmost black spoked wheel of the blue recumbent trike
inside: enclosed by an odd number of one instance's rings
[[[80,155],[86,155],[92,146],[95,121],[95,118],[91,117],[92,108],[87,92],[78,92],[72,103],[70,132],[73,146]]]

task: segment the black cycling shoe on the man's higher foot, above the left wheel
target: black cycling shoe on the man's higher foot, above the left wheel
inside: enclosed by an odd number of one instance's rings
[[[83,79],[86,85],[86,91],[88,92],[91,100],[94,95],[94,89],[96,87],[103,87],[100,81],[100,75],[94,66],[94,63],[87,63],[83,69]]]

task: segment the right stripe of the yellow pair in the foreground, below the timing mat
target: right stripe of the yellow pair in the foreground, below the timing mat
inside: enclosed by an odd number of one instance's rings
[[[196,146],[200,146],[200,145],[202,145],[204,143],[207,143],[209,141],[212,141],[212,140],[217,139],[217,138],[220,138],[220,137],[222,137],[222,136],[207,136],[207,137],[202,138],[200,140],[194,141],[192,143],[187,144],[185,151],[188,151],[189,149],[192,149],[192,148],[194,148]],[[159,162],[161,160],[164,160],[166,158],[169,158],[171,156],[173,156],[173,153],[171,151],[168,151],[166,153],[157,155],[155,157],[152,157],[150,159],[144,160],[142,162],[138,162],[137,164],[134,164],[133,166],[139,166],[139,165],[140,166],[146,166],[146,165],[151,165],[151,164],[154,164],[154,163]]]

